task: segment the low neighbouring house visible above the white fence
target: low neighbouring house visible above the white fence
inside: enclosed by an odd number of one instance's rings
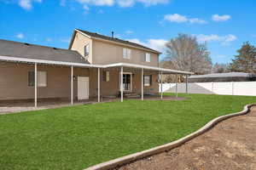
[[[207,75],[193,75],[189,82],[250,82],[256,81],[256,75],[246,72],[226,72]]]

